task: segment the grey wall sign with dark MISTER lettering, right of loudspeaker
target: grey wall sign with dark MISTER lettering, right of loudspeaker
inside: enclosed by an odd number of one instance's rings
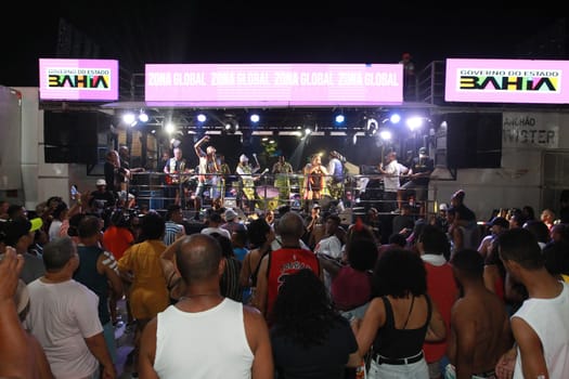
[[[558,146],[558,115],[504,113],[502,121],[502,147],[555,148]]]

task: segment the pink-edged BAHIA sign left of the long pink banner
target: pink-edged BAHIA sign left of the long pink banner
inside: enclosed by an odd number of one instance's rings
[[[118,100],[118,61],[39,60],[40,100]]]

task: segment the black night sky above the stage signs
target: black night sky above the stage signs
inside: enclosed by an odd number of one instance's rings
[[[380,10],[352,2],[253,4],[14,4],[14,15],[7,14],[0,24],[0,84],[37,87],[38,58],[57,56],[117,58],[128,73],[143,73],[145,63],[397,63],[404,52],[412,54],[417,69],[447,57],[559,58],[552,47],[540,55],[535,42],[551,42],[562,28],[559,18],[528,16],[520,10],[431,15],[421,9]],[[66,34],[59,32],[62,21]]]

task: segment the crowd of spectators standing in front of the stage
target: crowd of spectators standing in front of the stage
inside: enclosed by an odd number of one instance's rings
[[[196,224],[78,196],[1,204],[1,377],[118,377],[120,299],[132,377],[569,377],[569,227],[551,210],[481,225],[460,190],[382,244],[318,201]]]

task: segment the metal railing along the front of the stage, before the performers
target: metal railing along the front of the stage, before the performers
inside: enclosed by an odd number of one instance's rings
[[[219,174],[205,174],[207,180],[218,179],[217,184],[209,187],[203,195],[202,207],[210,207],[219,198],[225,207],[241,208],[246,211],[244,187],[238,174],[231,174],[221,181]],[[255,177],[255,174],[254,174]],[[306,175],[264,174],[255,183],[254,196],[256,209],[261,211],[275,210],[281,205],[288,205],[293,209],[308,210],[313,202],[340,206],[341,208],[376,208],[379,213],[391,213],[398,208],[397,199],[385,199],[384,175],[382,174],[348,174],[340,181],[339,196],[331,195],[332,177],[325,178],[325,185],[321,191],[321,199],[306,199]],[[198,184],[195,173],[170,175],[164,172],[137,172],[132,174],[129,192],[137,198],[139,206],[146,205],[151,209],[166,210],[171,204],[180,204],[184,209],[194,209],[194,199]],[[250,192],[249,192],[250,194]],[[395,196],[395,195],[393,195]],[[403,202],[411,204],[403,198]],[[413,201],[414,207],[419,204]],[[424,211],[429,212],[429,201],[425,201]],[[199,209],[201,211],[202,209]],[[247,209],[251,212],[251,209]]]

